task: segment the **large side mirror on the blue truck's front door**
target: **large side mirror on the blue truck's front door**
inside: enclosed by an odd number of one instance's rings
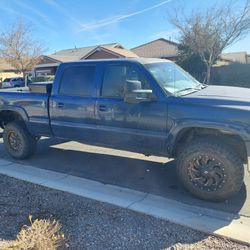
[[[124,101],[127,103],[152,102],[156,100],[151,89],[142,89],[141,82],[136,80],[126,81],[124,88]]]

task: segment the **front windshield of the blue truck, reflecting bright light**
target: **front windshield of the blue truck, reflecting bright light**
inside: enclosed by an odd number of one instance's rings
[[[145,64],[158,84],[168,93],[185,95],[204,87],[191,75],[172,62]]]

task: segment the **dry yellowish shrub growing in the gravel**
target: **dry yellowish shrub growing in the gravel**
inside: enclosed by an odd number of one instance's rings
[[[32,221],[30,226],[23,226],[16,240],[2,242],[3,250],[56,250],[64,243],[64,235],[61,233],[61,224],[56,220]]]

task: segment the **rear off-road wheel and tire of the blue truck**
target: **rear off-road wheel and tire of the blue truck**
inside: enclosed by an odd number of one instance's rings
[[[22,122],[8,123],[3,132],[6,151],[15,159],[27,159],[36,151],[37,140]]]

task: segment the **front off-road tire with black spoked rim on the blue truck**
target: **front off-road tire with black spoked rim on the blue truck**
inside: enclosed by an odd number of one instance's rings
[[[244,165],[225,142],[205,137],[184,146],[177,158],[177,175],[183,186],[196,197],[223,201],[241,189]]]

